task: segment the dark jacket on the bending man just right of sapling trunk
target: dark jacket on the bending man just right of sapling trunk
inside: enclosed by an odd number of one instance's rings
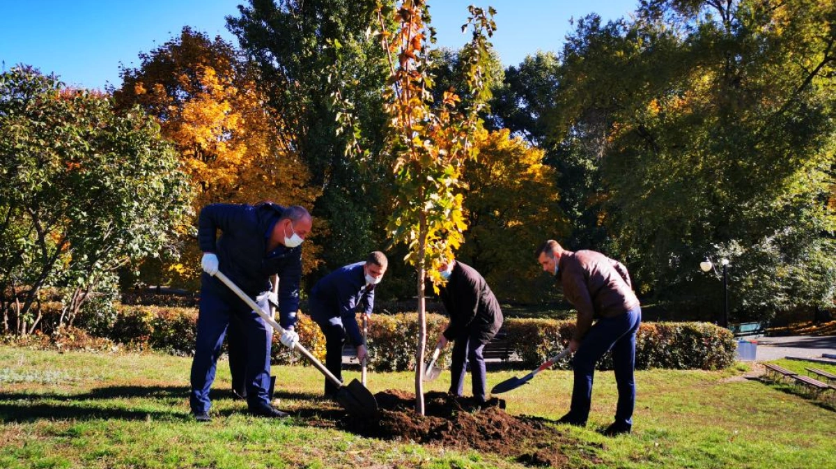
[[[476,333],[482,344],[487,344],[502,327],[502,310],[497,297],[474,268],[456,261],[446,285],[439,296],[450,325],[444,331],[447,340],[454,340],[463,333]]]

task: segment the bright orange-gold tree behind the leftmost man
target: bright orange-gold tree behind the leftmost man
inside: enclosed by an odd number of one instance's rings
[[[115,99],[157,118],[191,178],[196,213],[214,202],[310,207],[319,196],[307,185],[307,167],[279,136],[281,120],[266,105],[256,70],[231,44],[186,27],[121,74]],[[149,260],[146,280],[195,285],[200,252],[191,231],[184,227],[179,258]],[[318,251],[306,247],[306,268],[314,268]]]

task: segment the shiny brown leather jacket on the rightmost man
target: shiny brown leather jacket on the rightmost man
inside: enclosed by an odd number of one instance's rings
[[[627,268],[600,252],[563,251],[558,278],[563,295],[578,310],[573,339],[582,339],[593,319],[614,318],[639,306]]]

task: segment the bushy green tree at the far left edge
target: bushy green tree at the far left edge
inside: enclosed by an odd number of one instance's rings
[[[91,292],[112,292],[116,269],[158,254],[189,212],[185,175],[153,120],[33,69],[0,75],[0,158],[7,332],[33,331],[45,286],[63,288],[59,322],[72,324]]]

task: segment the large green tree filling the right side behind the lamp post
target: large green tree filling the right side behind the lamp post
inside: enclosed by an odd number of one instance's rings
[[[834,13],[657,1],[568,38],[555,121],[573,151],[602,142],[602,222],[643,292],[721,304],[694,267],[711,255],[731,260],[738,319],[832,301]]]

